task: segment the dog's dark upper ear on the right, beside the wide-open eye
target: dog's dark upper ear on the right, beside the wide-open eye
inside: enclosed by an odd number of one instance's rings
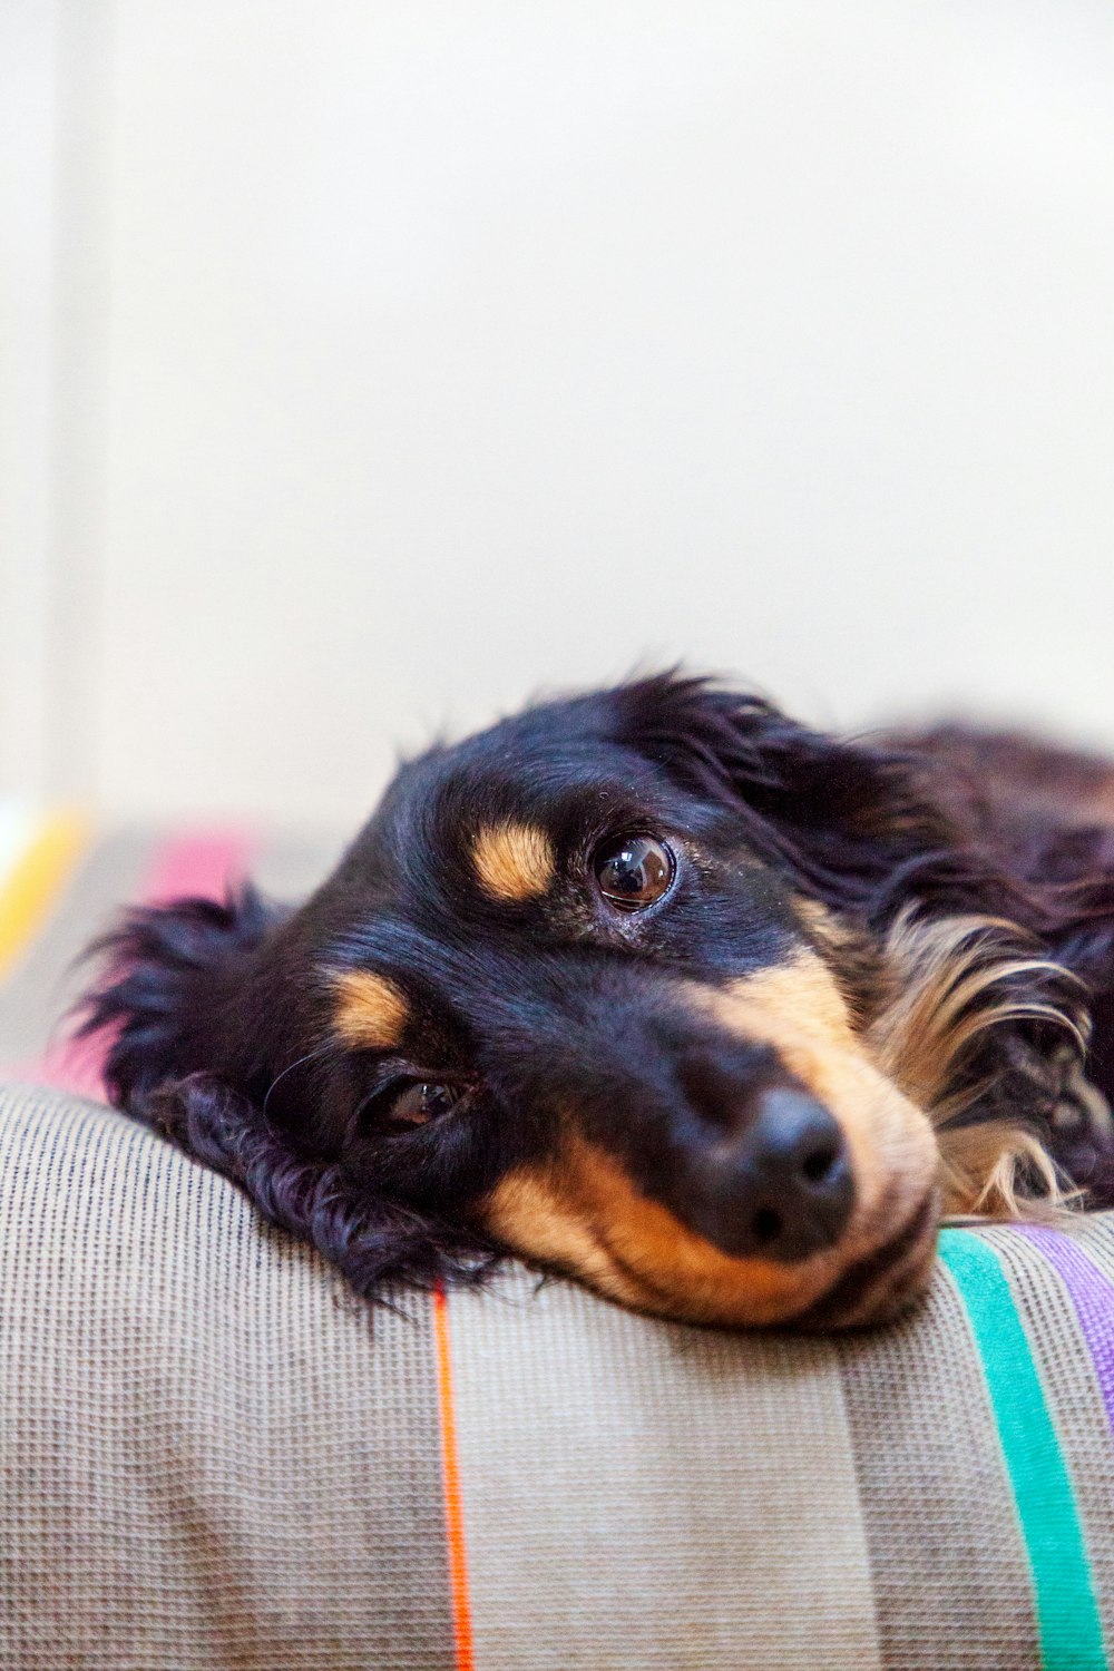
[[[618,740],[728,805],[763,857],[825,904],[895,916],[930,862],[940,894],[947,820],[899,750],[827,737],[760,697],[671,673],[621,687],[616,710]],[[970,904],[960,871],[952,906]]]

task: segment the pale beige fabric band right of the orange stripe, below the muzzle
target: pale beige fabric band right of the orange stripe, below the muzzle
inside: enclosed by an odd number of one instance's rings
[[[877,1671],[832,1345],[534,1290],[449,1300],[484,1671]]]

